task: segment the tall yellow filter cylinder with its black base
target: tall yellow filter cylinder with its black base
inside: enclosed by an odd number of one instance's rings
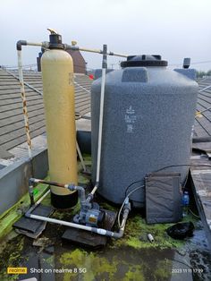
[[[51,181],[78,183],[72,56],[61,49],[46,51],[41,58],[46,137]],[[77,192],[51,186],[56,208],[70,208]]]

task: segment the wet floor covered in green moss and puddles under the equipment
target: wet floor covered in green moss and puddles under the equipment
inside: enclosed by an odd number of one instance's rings
[[[88,178],[81,177],[83,183],[89,183]],[[43,203],[49,205],[49,197]],[[102,199],[100,205],[105,209],[117,209]],[[79,209],[80,206],[77,205],[75,209],[56,210],[52,217],[70,220]],[[202,224],[191,216],[186,220],[191,220],[196,227],[194,237],[178,241],[166,234],[165,230],[170,224],[146,225],[139,211],[132,212],[123,238],[109,239],[105,248],[96,250],[71,242],[63,243],[61,237],[65,226],[48,224],[40,236],[45,238],[46,243],[41,243],[40,246],[33,246],[32,239],[12,231],[4,237],[0,246],[0,280],[21,280],[27,277],[37,277],[44,281],[165,281],[173,280],[173,277],[184,281],[210,280],[211,255]],[[154,236],[154,243],[148,241],[148,233]],[[27,267],[28,274],[19,277],[6,275],[6,268],[9,266]],[[31,268],[43,269],[43,273],[30,273]],[[185,272],[191,268],[202,269],[203,272]],[[45,273],[45,269],[57,269],[57,272]],[[173,269],[184,272],[179,274]]]

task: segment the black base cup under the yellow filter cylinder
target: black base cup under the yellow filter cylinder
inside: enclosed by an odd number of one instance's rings
[[[56,209],[68,209],[78,203],[78,192],[72,192],[69,195],[57,195],[51,192],[51,204]]]

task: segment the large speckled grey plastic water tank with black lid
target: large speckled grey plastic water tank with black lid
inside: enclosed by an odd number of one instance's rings
[[[191,69],[169,70],[160,55],[129,56],[122,69],[106,74],[100,182],[97,192],[122,203],[126,187],[164,166],[190,163],[191,131],[198,84]],[[101,78],[91,88],[92,181],[97,167]],[[189,167],[168,168],[181,173]],[[141,185],[133,184],[129,191]],[[145,204],[143,189],[135,207]]]

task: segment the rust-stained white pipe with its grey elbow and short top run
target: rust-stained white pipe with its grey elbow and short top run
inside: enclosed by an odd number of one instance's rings
[[[22,110],[24,115],[24,125],[27,135],[27,144],[28,144],[28,153],[29,158],[31,158],[31,138],[30,138],[30,123],[29,123],[29,115],[28,115],[28,109],[27,109],[27,100],[26,100],[26,93],[25,93],[25,87],[24,87],[24,81],[23,81],[23,72],[22,72],[22,55],[21,55],[21,49],[22,46],[41,46],[41,47],[47,47],[46,43],[33,43],[33,42],[27,42],[26,40],[19,40],[16,44],[17,48],[17,55],[18,55],[18,72],[19,72],[19,81],[21,85],[21,98],[22,98]]]

